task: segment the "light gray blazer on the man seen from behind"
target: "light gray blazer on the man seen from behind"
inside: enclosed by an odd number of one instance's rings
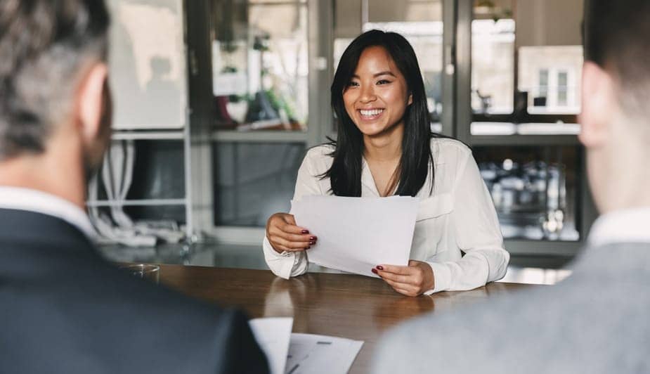
[[[591,247],[563,282],[412,319],[373,373],[650,373],[650,243]]]

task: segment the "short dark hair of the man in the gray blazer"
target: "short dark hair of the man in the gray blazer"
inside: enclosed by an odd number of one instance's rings
[[[629,114],[648,115],[650,99],[650,1],[587,0],[585,60],[610,72]]]

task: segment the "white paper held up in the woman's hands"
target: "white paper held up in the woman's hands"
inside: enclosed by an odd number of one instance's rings
[[[304,196],[292,200],[298,226],[318,237],[307,250],[310,262],[377,277],[379,264],[405,266],[413,239],[418,198]]]

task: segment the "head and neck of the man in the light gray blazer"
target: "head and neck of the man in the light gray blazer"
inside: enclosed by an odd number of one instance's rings
[[[650,1],[587,0],[580,141],[601,212],[650,205]]]

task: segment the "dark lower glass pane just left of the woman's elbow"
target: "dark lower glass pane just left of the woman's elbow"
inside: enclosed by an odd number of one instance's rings
[[[304,143],[216,143],[216,226],[259,226],[289,212]]]

